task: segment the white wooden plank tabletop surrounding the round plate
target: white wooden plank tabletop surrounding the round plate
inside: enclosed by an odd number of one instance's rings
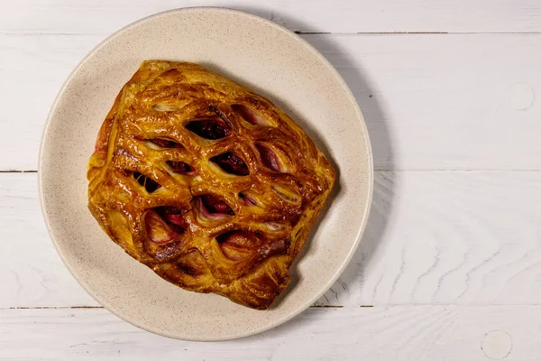
[[[375,194],[362,245],[320,301],[241,340],[160,338],[60,262],[36,189],[41,130],[78,61],[174,7],[299,32],[353,89]],[[0,0],[0,360],[541,359],[538,0]]]

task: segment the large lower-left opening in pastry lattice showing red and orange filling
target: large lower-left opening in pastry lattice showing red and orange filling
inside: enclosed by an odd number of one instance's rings
[[[188,224],[182,218],[182,210],[176,207],[158,207],[148,211],[144,218],[147,234],[152,242],[169,242],[182,235]]]

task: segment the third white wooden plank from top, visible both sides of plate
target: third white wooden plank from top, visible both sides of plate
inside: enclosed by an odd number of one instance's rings
[[[0,173],[0,308],[95,306],[55,254],[35,185]],[[539,304],[539,225],[539,171],[378,171],[362,244],[316,304]]]

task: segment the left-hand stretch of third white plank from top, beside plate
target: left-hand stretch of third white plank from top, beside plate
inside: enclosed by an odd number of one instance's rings
[[[35,173],[0,173],[0,308],[97,306],[50,241],[37,184]]]

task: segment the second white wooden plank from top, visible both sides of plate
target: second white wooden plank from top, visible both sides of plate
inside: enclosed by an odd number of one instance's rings
[[[541,157],[532,156],[541,153],[541,52],[535,51],[541,34],[303,38],[353,89],[376,169],[541,168]],[[0,77],[7,84],[0,88],[0,170],[36,169],[49,106],[101,39],[0,35]]]

